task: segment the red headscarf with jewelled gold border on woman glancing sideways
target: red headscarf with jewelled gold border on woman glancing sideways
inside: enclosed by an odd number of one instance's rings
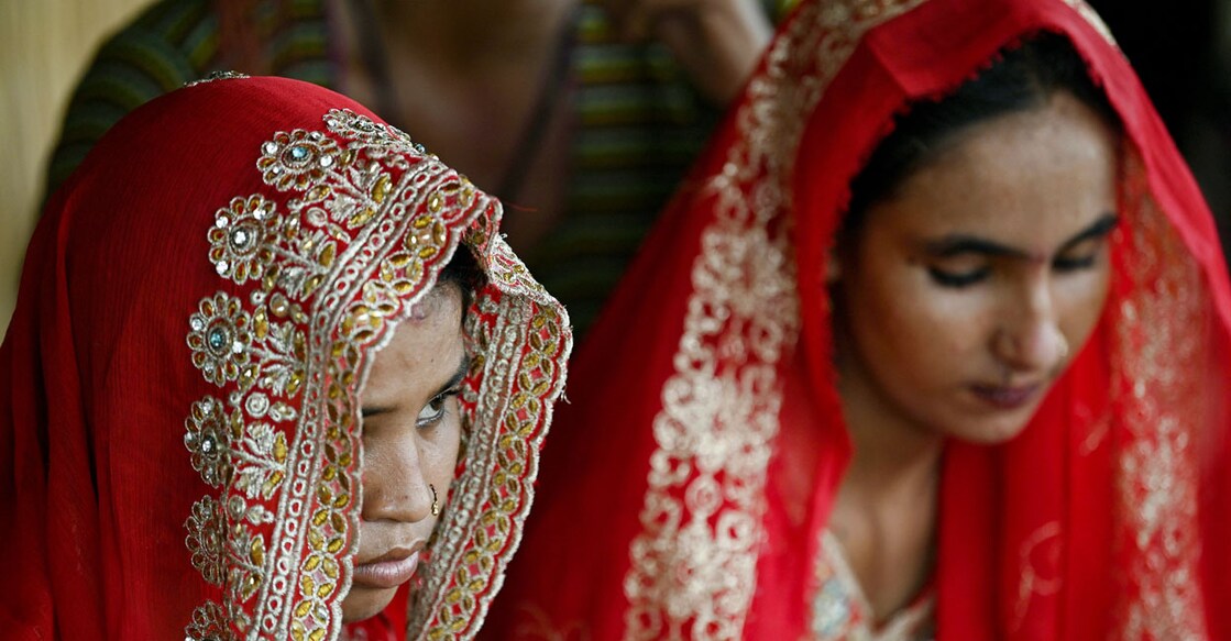
[[[4,636],[337,639],[363,381],[457,251],[486,276],[464,453],[409,613],[367,632],[473,636],[571,344],[500,215],[305,82],[204,82],[124,118],[48,204],[0,348]]]

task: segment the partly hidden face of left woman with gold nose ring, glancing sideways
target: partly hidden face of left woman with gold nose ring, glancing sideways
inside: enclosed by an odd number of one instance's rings
[[[375,615],[417,570],[457,465],[468,368],[462,295],[437,287],[377,353],[363,388],[363,512],[342,619]]]

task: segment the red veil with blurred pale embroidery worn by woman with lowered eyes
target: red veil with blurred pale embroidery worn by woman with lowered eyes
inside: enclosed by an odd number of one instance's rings
[[[1041,31],[1123,122],[1112,294],[1023,436],[947,447],[936,635],[1231,639],[1231,288],[1080,0],[803,2],[575,360],[491,636],[809,637],[851,454],[824,282],[847,186],[895,113]]]

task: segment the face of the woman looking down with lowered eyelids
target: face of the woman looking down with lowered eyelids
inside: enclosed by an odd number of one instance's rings
[[[1113,130],[1059,92],[960,132],[873,204],[836,273],[854,415],[1018,434],[1107,300],[1117,159]]]

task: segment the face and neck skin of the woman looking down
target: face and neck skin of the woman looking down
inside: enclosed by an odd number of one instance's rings
[[[1098,322],[1118,140],[1066,92],[968,125],[835,251],[854,453],[831,529],[879,616],[931,573],[944,440],[1019,434]]]

